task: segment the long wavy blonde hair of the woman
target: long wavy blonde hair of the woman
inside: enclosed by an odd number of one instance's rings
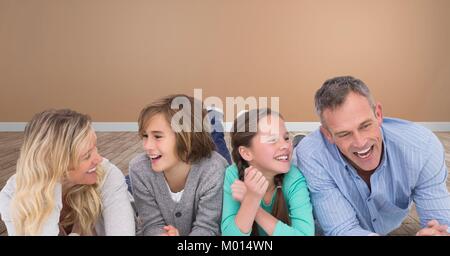
[[[80,151],[93,133],[90,117],[72,110],[47,110],[25,127],[17,161],[12,217],[18,235],[38,235],[55,208],[55,187],[80,163]],[[75,185],[63,195],[69,211],[63,227],[77,223],[82,235],[91,235],[101,214],[100,186],[104,171],[97,167],[97,182]]]

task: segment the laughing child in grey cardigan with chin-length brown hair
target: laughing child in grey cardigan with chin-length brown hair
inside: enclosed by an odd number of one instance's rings
[[[177,101],[182,109],[172,109]],[[214,151],[203,125],[206,112],[195,113],[201,108],[195,104],[192,97],[172,95],[140,113],[145,153],[130,162],[129,171],[143,235],[220,234],[227,161]]]

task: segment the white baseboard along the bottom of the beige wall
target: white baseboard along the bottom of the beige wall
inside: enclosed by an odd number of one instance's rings
[[[450,122],[417,122],[433,132],[450,132]],[[0,122],[0,132],[22,132],[26,122]],[[225,131],[230,131],[232,122],[225,122]],[[97,132],[137,132],[136,122],[93,122]],[[311,132],[319,128],[319,122],[286,122],[288,131]]]

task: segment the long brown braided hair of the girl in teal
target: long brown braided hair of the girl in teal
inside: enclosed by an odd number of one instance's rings
[[[259,121],[266,116],[275,115],[284,120],[280,113],[272,111],[270,108],[253,109],[238,116],[233,123],[231,130],[231,146],[233,161],[237,166],[239,179],[244,180],[244,172],[249,167],[248,162],[242,158],[239,153],[239,147],[250,147],[253,138],[258,132]],[[274,183],[276,187],[276,197],[272,208],[272,215],[281,220],[282,222],[290,225],[291,220],[289,218],[288,208],[286,200],[282,191],[284,173],[278,174],[274,177]],[[252,235],[259,235],[256,222],[253,223]]]

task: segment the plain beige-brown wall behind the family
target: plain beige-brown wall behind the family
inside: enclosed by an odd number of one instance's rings
[[[166,94],[313,95],[361,78],[385,114],[450,121],[448,0],[0,0],[0,122],[70,107],[135,121]]]

